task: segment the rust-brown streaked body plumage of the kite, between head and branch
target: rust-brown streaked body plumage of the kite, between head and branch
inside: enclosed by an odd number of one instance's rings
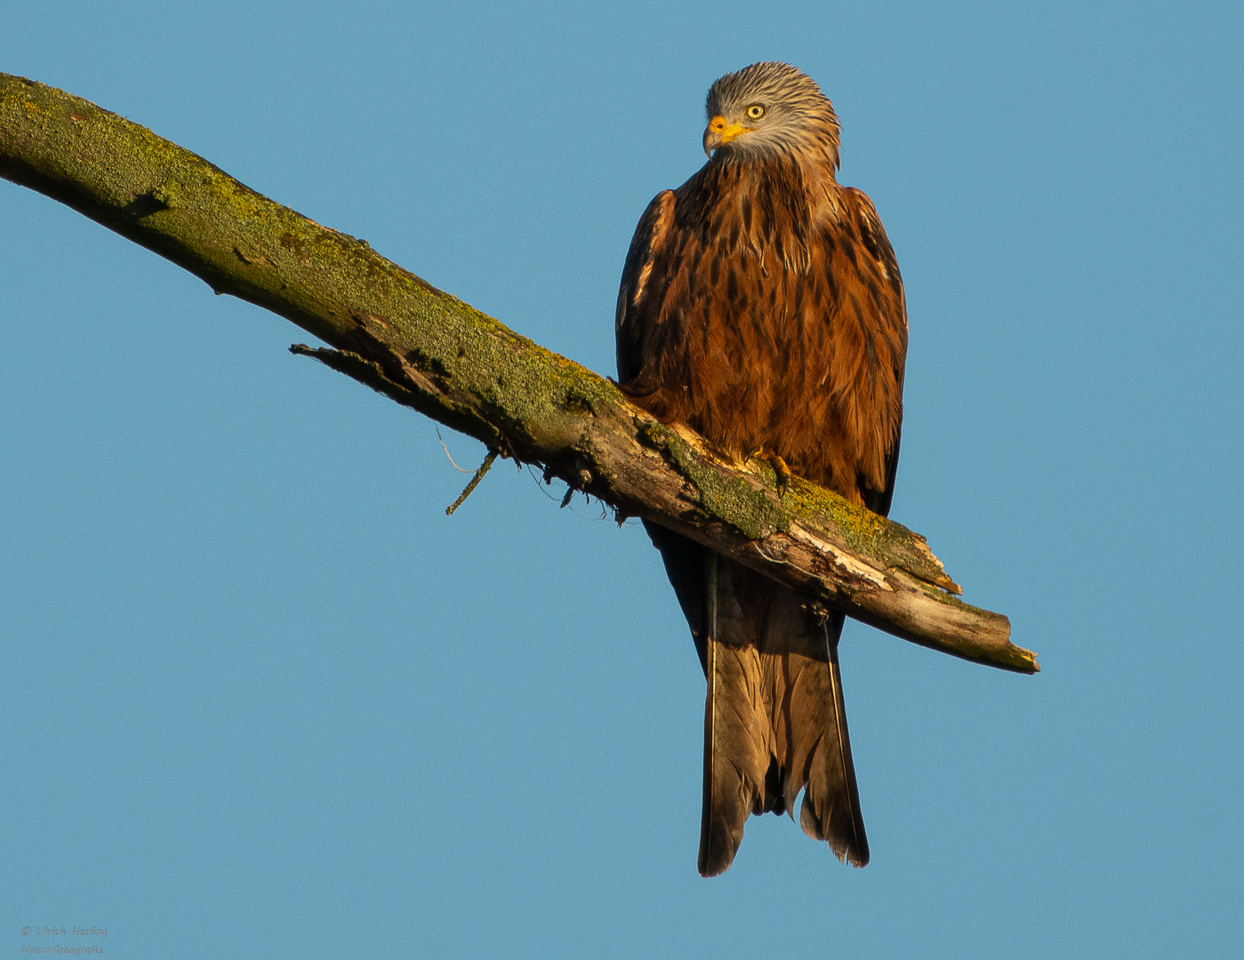
[[[658,194],[618,297],[618,378],[662,420],[872,506],[903,415],[903,287],[872,203],[824,174],[714,158]]]

